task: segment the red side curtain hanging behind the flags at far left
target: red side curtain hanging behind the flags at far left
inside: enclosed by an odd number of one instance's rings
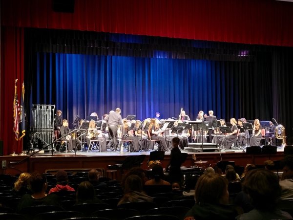
[[[22,140],[16,141],[14,138],[13,100],[15,79],[18,79],[18,97],[19,101],[21,100],[23,45],[23,28],[5,27],[1,29],[0,139],[3,140],[4,155],[12,152],[18,154],[22,151]]]

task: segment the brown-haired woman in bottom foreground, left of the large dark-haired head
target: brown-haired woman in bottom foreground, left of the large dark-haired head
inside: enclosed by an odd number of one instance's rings
[[[238,215],[232,206],[228,206],[228,181],[218,174],[199,177],[195,186],[195,202],[185,220],[232,220]]]

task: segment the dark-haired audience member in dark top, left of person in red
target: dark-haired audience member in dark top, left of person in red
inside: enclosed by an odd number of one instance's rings
[[[59,197],[57,195],[47,195],[47,179],[43,174],[33,173],[29,177],[29,186],[32,195],[25,194],[21,198],[18,210],[35,205],[59,205]]]

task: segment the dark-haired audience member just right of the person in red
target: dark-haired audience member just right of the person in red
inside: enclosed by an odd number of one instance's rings
[[[96,197],[94,186],[88,181],[81,182],[76,192],[76,204],[98,202],[103,203]]]

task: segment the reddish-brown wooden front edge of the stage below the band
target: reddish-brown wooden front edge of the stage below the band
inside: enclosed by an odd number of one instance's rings
[[[39,172],[45,173],[48,170],[89,170],[92,168],[107,170],[108,165],[122,163],[126,156],[129,155],[140,155],[146,154],[146,158],[143,162],[142,168],[148,169],[146,162],[149,159],[150,152],[141,153],[115,153],[115,152],[77,152],[74,153],[58,153],[48,154],[48,153],[38,153],[31,157],[26,156],[0,156],[1,165],[3,161],[6,161],[7,168],[3,169],[2,166],[0,174],[10,174],[17,175],[21,172]],[[204,153],[192,153],[185,150],[182,153],[188,153],[188,157],[184,162],[183,166],[193,166],[194,160],[192,159],[192,154],[196,154],[196,161],[203,160],[208,161],[203,167],[209,166],[209,164],[215,165],[220,160],[235,161],[235,165],[245,166],[248,163],[254,163],[258,165],[263,165],[266,160],[282,160],[284,158],[283,149],[279,149],[276,154],[260,154],[251,155],[246,154],[243,150],[234,151],[221,151],[218,152],[204,152]],[[27,158],[26,158],[27,157]],[[21,164],[11,164],[11,162],[21,161],[24,158],[24,162]],[[170,152],[165,153],[165,158],[162,162],[162,166],[165,168],[170,160]],[[5,162],[4,162],[5,163]]]

